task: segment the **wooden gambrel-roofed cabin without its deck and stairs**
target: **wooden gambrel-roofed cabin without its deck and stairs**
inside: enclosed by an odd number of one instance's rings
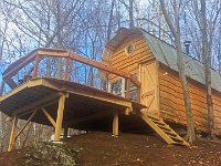
[[[183,56],[194,126],[197,131],[207,133],[204,69],[194,59],[185,53]],[[147,106],[145,112],[172,124],[187,125],[176,48],[143,29],[123,28],[106,43],[102,62],[136,75],[141,83],[140,102]],[[221,135],[221,76],[211,69],[211,79],[214,127]]]

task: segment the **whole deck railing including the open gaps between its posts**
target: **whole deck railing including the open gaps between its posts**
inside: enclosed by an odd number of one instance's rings
[[[73,52],[38,49],[22,63],[12,65],[3,73],[1,94],[32,77],[53,77],[140,102],[140,83],[134,75]]]

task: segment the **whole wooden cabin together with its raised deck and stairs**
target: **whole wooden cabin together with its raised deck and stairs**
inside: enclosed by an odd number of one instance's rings
[[[183,56],[194,125],[207,133],[203,65]],[[221,77],[211,73],[215,133],[221,135]],[[118,30],[102,62],[61,49],[33,50],[12,63],[2,80],[0,111],[12,117],[8,151],[30,122],[54,127],[54,141],[69,127],[112,128],[118,136],[133,125],[136,131],[148,125],[168,144],[189,146],[167,125],[187,124],[176,49],[143,29]],[[18,120],[27,121],[20,131]]]

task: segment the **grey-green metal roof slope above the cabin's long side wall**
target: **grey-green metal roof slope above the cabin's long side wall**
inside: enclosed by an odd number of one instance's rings
[[[170,69],[178,71],[176,48],[141,30],[155,58]],[[186,75],[204,84],[204,66],[183,53]],[[221,92],[221,76],[211,69],[212,87]]]

